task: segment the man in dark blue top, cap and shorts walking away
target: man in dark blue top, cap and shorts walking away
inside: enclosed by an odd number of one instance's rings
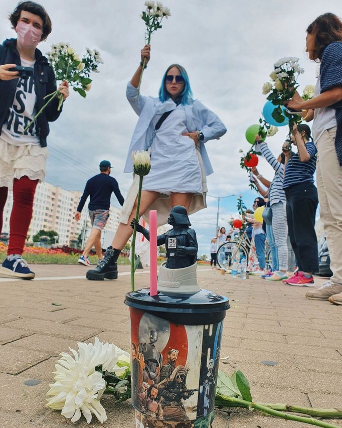
[[[83,254],[78,259],[78,262],[80,264],[84,264],[85,266],[89,266],[91,264],[88,259],[88,255],[93,245],[99,260],[102,259],[101,231],[105,227],[109,218],[111,194],[115,194],[121,206],[124,202],[117,181],[115,178],[109,177],[110,170],[110,162],[101,161],[101,172],[87,181],[75,214],[75,220],[79,221],[84,204],[88,196],[90,196],[88,210],[92,229],[84,247]]]

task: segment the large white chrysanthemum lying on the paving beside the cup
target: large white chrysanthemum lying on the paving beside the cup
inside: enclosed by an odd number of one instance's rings
[[[63,352],[55,365],[55,383],[47,395],[47,406],[62,410],[62,415],[76,422],[81,413],[90,423],[92,414],[103,423],[107,420],[106,411],[100,404],[100,396],[106,382],[95,367],[102,365],[103,370],[113,371],[118,355],[124,351],[115,345],[103,344],[95,338],[95,343],[78,343],[78,353],[69,348],[74,358]]]

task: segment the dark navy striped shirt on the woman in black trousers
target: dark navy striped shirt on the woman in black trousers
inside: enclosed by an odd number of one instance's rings
[[[290,158],[285,167],[285,177],[283,189],[303,182],[313,183],[313,174],[316,169],[317,149],[312,141],[305,144],[310,159],[307,162],[300,162],[299,155],[296,153]]]

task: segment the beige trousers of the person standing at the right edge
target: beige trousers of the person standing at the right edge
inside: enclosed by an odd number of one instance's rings
[[[342,167],[335,152],[336,126],[327,129],[315,141],[319,215],[324,225],[329,255],[331,281],[342,284]]]

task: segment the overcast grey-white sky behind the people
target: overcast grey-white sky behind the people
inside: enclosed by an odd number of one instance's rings
[[[85,182],[108,159],[113,176],[125,196],[131,175],[123,174],[129,141],[137,121],[125,97],[127,81],[140,61],[144,45],[144,23],[139,18],[143,1],[45,0],[53,31],[38,47],[47,52],[52,43],[69,42],[80,55],[85,47],[98,49],[104,60],[94,74],[87,98],[71,91],[48,138],[50,157],[46,181],[69,190],[83,190]],[[164,2],[163,2],[164,3]],[[169,64],[182,64],[188,71],[194,96],[212,109],[228,128],[220,140],[206,143],[214,174],[208,177],[209,195],[242,194],[251,207],[256,194],[248,187],[248,175],[239,167],[239,149],[250,145],[246,128],[257,123],[266,101],[261,87],[268,81],[273,64],[284,56],[297,56],[305,73],[302,88],[315,84],[317,64],[305,54],[305,29],[318,15],[338,14],[340,0],[168,0],[172,13],[163,28],[152,35],[151,60],[143,75],[141,92],[156,96]],[[7,14],[16,2],[2,0],[2,39],[16,37]],[[268,138],[270,149],[279,154],[287,127]],[[259,171],[269,180],[273,173],[261,159]],[[113,205],[119,206],[116,199]],[[215,233],[217,199],[207,198],[208,208],[193,216],[199,253],[209,253]],[[236,197],[220,203],[220,226],[227,227],[236,212]],[[221,220],[224,219],[224,220]]]

